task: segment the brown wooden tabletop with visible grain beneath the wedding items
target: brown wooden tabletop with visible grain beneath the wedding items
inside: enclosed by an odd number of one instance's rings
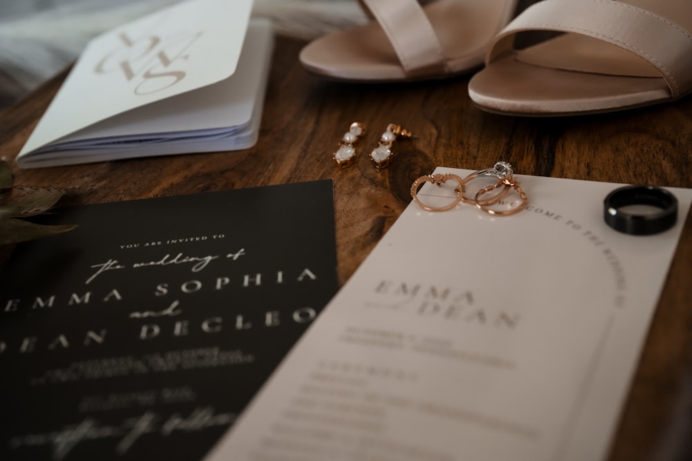
[[[483,169],[507,160],[520,174],[692,187],[692,97],[607,115],[506,117],[473,106],[468,76],[379,86],[326,82],[298,64],[302,45],[277,42],[260,140],[252,149],[15,169],[15,183],[78,188],[76,203],[102,203],[334,178],[340,283],[409,203],[412,182],[437,165]],[[64,76],[0,113],[1,156],[15,158]],[[369,130],[361,149],[392,122],[417,138],[395,144],[397,158],[385,171],[376,171],[362,153],[357,164],[339,170],[331,153],[354,121]],[[692,459],[691,231],[692,216],[622,413],[612,461]]]

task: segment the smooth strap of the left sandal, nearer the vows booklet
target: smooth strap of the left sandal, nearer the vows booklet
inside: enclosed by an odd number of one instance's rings
[[[418,0],[360,0],[384,30],[407,75],[444,68],[435,29]]]

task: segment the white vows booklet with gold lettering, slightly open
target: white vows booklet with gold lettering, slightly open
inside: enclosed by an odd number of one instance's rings
[[[49,167],[246,149],[273,48],[253,0],[190,0],[96,37],[17,162]]]

